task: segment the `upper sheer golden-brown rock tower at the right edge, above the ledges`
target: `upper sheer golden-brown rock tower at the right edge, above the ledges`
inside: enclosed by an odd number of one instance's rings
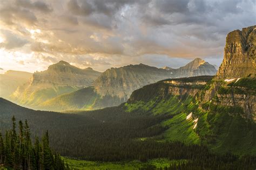
[[[233,79],[256,74],[256,25],[228,33],[219,79]]]

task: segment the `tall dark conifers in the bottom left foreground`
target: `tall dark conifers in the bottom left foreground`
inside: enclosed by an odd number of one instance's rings
[[[45,132],[42,139],[35,137],[32,142],[28,121],[25,124],[12,117],[12,128],[0,132],[0,165],[14,169],[69,169],[64,165],[60,155],[53,153],[49,146],[49,134]]]

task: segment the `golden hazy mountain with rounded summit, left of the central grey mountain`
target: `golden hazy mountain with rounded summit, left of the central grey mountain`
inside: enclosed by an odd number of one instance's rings
[[[11,100],[33,108],[50,98],[91,86],[100,74],[92,68],[80,69],[59,61],[47,70],[34,73],[30,81],[11,95]]]

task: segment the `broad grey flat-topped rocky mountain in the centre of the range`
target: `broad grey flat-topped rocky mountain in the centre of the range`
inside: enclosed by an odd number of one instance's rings
[[[170,76],[170,72],[165,69],[143,64],[129,65],[107,69],[98,77],[94,85],[97,93],[101,96],[118,96],[124,98],[125,102],[132,91]]]

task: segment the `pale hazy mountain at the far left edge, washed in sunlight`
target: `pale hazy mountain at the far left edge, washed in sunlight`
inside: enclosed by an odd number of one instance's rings
[[[4,74],[0,74],[0,96],[9,98],[18,86],[29,81],[32,73],[20,72],[16,70],[8,70]]]

